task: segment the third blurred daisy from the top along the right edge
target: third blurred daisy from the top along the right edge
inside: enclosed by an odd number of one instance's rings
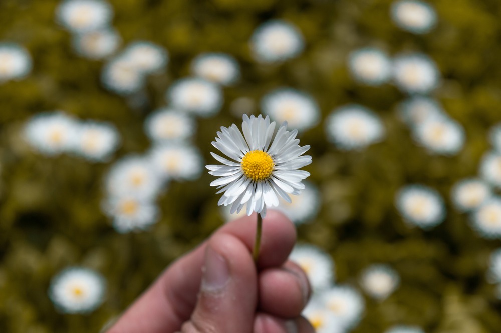
[[[486,200],[473,212],[471,222],[483,238],[501,239],[501,198]]]

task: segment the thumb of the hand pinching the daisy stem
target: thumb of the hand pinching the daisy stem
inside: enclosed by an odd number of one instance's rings
[[[251,333],[257,306],[256,266],[238,238],[214,235],[205,249],[200,293],[185,333]]]

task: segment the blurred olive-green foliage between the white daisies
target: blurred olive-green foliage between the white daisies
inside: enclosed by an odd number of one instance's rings
[[[165,47],[165,72],[148,77],[144,93],[121,97],[100,82],[102,61],[78,56],[71,34],[55,22],[59,0],[0,1],[0,40],[26,47],[33,58],[28,77],[0,85],[0,331],[98,331],[119,315],[172,260],[196,246],[223,223],[218,197],[204,173],[196,181],[170,182],[159,197],[162,216],[150,230],[119,234],[101,211],[103,176],[111,163],[94,164],[71,155],[45,157],[22,139],[25,122],[39,112],[65,110],[80,119],[116,125],[122,146],[114,160],[143,153],[150,141],[145,117],[164,106],[164,93],[189,76],[191,60],[202,52],[225,52],[241,66],[241,79],[224,88],[221,112],[198,121],[194,142],[212,163],[210,142],[220,126],[241,121],[231,102],[262,96],[286,86],[311,94],[322,120],[336,107],[358,103],[383,120],[385,139],[355,152],[326,140],[323,122],[301,134],[312,146],[305,169],[318,185],[318,217],[298,227],[301,241],[327,250],[337,281],[357,285],[363,270],[385,263],[400,275],[400,287],[385,301],[366,299],[353,332],[382,332],[409,324],[437,333],[497,332],[501,301],[485,272],[498,240],[480,238],[468,217],[451,204],[452,185],[477,174],[489,149],[487,129],[501,121],[501,3],[496,0],[430,1],[438,25],[425,35],[398,29],[387,0],[110,0],[113,26],[123,44],[148,40]],[[293,22],[305,38],[296,59],[259,64],[248,41],[262,22]],[[355,82],[347,55],[377,46],[390,55],[423,52],[438,64],[442,84],[433,92],[466,131],[456,156],[429,155],[410,137],[396,105],[405,96],[385,84]],[[244,110],[245,111],[245,110]],[[394,208],[395,193],[422,183],[445,198],[447,217],[430,231],[409,228]],[[104,275],[103,305],[90,315],[61,315],[48,297],[51,278],[69,265]]]

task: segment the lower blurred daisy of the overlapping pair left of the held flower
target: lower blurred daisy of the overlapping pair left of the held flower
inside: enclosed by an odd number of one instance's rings
[[[145,230],[158,221],[158,207],[149,199],[139,199],[124,193],[103,204],[103,210],[113,219],[113,228],[119,233]]]

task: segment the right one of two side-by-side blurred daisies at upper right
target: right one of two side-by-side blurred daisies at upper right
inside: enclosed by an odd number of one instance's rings
[[[421,53],[397,56],[393,61],[393,78],[398,88],[408,94],[427,94],[440,83],[435,62]]]

